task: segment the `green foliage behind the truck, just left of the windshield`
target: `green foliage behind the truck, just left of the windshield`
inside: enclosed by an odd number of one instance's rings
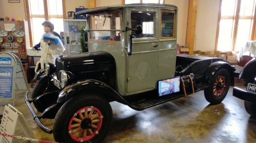
[[[84,53],[84,52],[88,52],[88,32],[86,31],[86,25],[82,26],[82,28],[80,29],[80,39],[79,39],[79,42],[80,42],[80,45],[81,45],[81,52]],[[85,40],[85,41],[84,41]]]

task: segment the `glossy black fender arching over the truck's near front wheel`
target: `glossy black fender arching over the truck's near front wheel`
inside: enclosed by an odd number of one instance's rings
[[[77,81],[65,87],[58,95],[57,104],[65,102],[74,96],[88,93],[96,93],[106,98],[109,102],[118,101],[122,104],[128,104],[127,101],[108,84],[94,79]]]

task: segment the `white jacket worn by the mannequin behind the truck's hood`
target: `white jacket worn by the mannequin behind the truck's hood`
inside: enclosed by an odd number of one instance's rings
[[[44,34],[46,36],[50,36],[53,38],[58,39],[58,45],[55,44],[50,44],[48,45],[47,42],[44,42],[44,38],[41,38],[41,59],[40,59],[40,63],[41,63],[41,68],[44,68],[44,62],[49,62],[52,64],[55,64],[55,59],[56,57],[58,57],[59,55],[61,55],[64,51],[64,45],[61,42],[61,39],[58,36],[55,36],[53,34]],[[48,53],[48,49],[51,52],[51,54],[47,54]]]

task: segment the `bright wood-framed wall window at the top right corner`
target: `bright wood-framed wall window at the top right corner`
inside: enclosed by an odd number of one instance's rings
[[[255,40],[255,5],[256,0],[220,0],[215,49],[239,51],[247,41]]]

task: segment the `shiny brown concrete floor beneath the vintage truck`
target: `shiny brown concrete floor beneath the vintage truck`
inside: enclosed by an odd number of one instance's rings
[[[104,143],[256,143],[256,118],[247,114],[244,101],[235,98],[232,91],[230,87],[218,105],[209,105],[204,91],[143,111],[112,102],[113,123]],[[24,103],[24,93],[16,91],[14,107],[23,113],[35,139],[54,141],[33,120]],[[1,99],[0,112],[6,104]],[[53,120],[42,121],[52,129]],[[19,126],[15,136],[24,137]],[[15,138],[13,143],[17,142],[29,143]]]

